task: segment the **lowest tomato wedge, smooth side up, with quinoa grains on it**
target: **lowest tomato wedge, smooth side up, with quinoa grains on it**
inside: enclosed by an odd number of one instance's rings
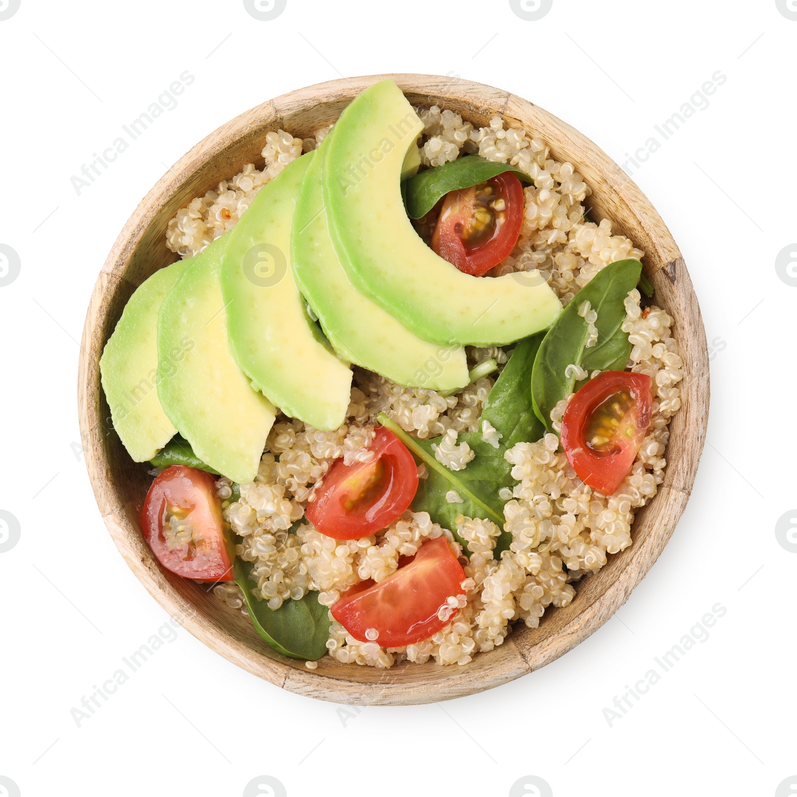
[[[438,611],[450,596],[465,594],[460,586],[464,580],[465,571],[446,538],[426,540],[401,570],[365,590],[344,593],[332,607],[332,617],[360,642],[414,645],[448,625],[450,614],[441,619]],[[365,635],[370,628],[379,631],[375,640]]]

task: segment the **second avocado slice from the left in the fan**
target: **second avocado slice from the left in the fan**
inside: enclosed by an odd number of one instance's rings
[[[235,363],[219,271],[226,233],[186,261],[158,315],[158,395],[194,453],[232,481],[257,475],[277,413]]]

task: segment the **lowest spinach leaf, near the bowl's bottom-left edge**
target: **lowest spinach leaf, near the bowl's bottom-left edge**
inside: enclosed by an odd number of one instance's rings
[[[327,652],[330,622],[328,608],[318,603],[318,593],[311,591],[301,600],[286,600],[272,611],[265,600],[252,594],[252,567],[253,563],[237,556],[233,572],[257,633],[277,653],[311,662],[321,658]]]

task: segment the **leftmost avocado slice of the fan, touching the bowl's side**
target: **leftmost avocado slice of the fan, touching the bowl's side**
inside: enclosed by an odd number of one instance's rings
[[[185,269],[185,261],[172,263],[135,289],[100,357],[113,428],[134,462],[150,460],[177,433],[158,400],[158,311]]]

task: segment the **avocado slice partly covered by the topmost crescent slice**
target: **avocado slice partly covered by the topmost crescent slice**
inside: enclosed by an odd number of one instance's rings
[[[291,235],[296,284],[330,343],[348,362],[404,387],[449,391],[469,383],[465,349],[422,340],[363,296],[340,265],[329,237],[321,169],[335,128],[324,139],[301,184]],[[417,147],[415,147],[417,150]]]

